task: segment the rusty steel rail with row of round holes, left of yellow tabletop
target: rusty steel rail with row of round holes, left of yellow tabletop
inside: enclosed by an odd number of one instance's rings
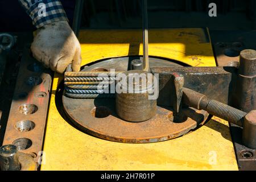
[[[14,144],[37,161],[46,126],[51,71],[30,56],[29,48],[24,48],[20,62],[3,144]]]

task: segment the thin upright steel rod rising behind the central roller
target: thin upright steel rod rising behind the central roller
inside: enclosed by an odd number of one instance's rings
[[[142,19],[143,19],[143,68],[148,72],[148,21],[147,21],[147,0],[143,1]]]

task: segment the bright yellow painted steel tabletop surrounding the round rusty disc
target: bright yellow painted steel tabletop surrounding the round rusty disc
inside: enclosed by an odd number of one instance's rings
[[[80,32],[82,65],[95,60],[142,55],[141,30]],[[149,55],[192,66],[215,66],[208,33],[201,28],[149,31]],[[228,122],[213,118],[183,137],[165,142],[128,144],[82,133],[56,109],[63,76],[55,74],[49,106],[42,170],[237,170]],[[213,90],[214,92],[214,90]],[[83,113],[81,113],[83,114]]]

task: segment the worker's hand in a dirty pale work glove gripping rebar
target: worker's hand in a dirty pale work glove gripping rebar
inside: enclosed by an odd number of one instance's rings
[[[52,71],[63,73],[70,63],[72,71],[80,71],[80,43],[67,21],[49,23],[36,30],[31,51],[35,59]]]

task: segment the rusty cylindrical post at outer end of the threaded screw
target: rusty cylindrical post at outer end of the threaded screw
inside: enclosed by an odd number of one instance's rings
[[[242,142],[246,147],[256,149],[256,110],[251,110],[244,117]]]

